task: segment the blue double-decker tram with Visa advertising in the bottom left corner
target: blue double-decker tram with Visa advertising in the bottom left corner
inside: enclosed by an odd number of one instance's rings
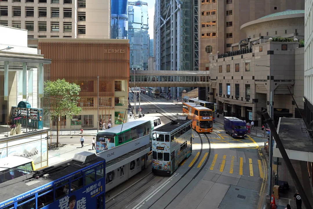
[[[1,183],[0,208],[105,209],[104,174],[105,159],[77,153],[71,160],[26,170],[25,175]]]

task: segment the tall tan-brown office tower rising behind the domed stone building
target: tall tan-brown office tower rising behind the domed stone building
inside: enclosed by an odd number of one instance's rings
[[[240,31],[241,25],[288,9],[303,10],[304,0],[201,0],[199,8],[200,70],[204,71],[209,70],[210,53],[229,52],[232,44],[249,38]]]

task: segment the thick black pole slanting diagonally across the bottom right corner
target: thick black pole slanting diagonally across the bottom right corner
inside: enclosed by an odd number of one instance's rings
[[[301,182],[295,172],[295,169],[294,167],[292,166],[291,162],[290,162],[290,159],[286,153],[286,150],[284,148],[284,145],[283,143],[280,141],[280,138],[278,136],[278,133],[276,132],[275,130],[275,126],[273,124],[273,120],[269,117],[269,113],[266,112],[266,110],[263,110],[263,116],[265,118],[265,121],[267,122],[268,126],[269,126],[269,129],[271,130],[271,133],[272,133],[272,136],[274,137],[275,141],[276,141],[276,144],[277,144],[277,147],[280,151],[280,154],[281,156],[283,157],[283,159],[285,160],[285,163],[286,163],[286,166],[287,166],[287,169],[292,177],[292,179],[294,180],[295,182],[295,186],[297,188],[297,190],[299,191],[299,194],[301,196],[301,199],[303,200],[303,204],[305,206],[306,209],[313,209],[311,204],[310,204],[310,201],[308,199],[308,197],[306,196],[306,193],[303,189],[303,186],[301,185]]]

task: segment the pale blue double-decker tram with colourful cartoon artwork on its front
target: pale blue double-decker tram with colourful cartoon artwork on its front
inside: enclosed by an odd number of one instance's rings
[[[171,175],[192,153],[192,120],[180,116],[152,131],[152,172]]]

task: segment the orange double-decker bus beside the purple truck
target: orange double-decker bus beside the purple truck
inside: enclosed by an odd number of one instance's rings
[[[192,128],[199,133],[213,132],[212,110],[193,102],[185,102],[182,106],[184,116],[192,119]]]

